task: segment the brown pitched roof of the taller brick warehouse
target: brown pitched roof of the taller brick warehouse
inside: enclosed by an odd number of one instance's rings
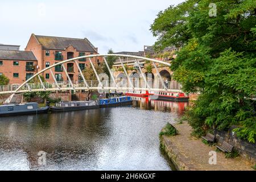
[[[57,36],[34,35],[43,49],[65,50],[68,46],[73,46],[77,51],[97,52],[88,39],[61,38]]]

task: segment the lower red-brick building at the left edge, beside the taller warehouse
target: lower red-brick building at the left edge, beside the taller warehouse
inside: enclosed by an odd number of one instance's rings
[[[31,51],[0,50],[0,75],[10,79],[10,84],[22,84],[34,73],[38,61]]]

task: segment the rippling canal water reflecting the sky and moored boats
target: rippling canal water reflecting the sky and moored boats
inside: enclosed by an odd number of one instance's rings
[[[126,107],[1,117],[0,170],[174,169],[158,134],[187,102],[136,99]]]

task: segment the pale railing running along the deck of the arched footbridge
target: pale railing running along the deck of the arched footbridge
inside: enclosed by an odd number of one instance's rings
[[[57,81],[56,82],[44,82],[43,85],[38,82],[38,83],[30,83],[23,85],[22,88],[18,90],[17,93],[22,93],[22,92],[30,92],[30,91],[43,91],[44,88],[46,90],[81,90],[81,89],[117,89],[117,90],[130,90],[130,89],[135,89],[135,90],[164,90],[164,86],[162,85],[162,82],[160,81],[147,81],[144,82],[142,80],[135,80],[132,81],[131,84],[129,81],[122,80],[122,81],[117,81],[117,87],[113,81],[101,81],[101,84],[97,80],[89,80],[86,81],[89,88],[86,87],[86,84],[84,81],[72,81],[72,84],[69,81]],[[73,88],[72,88],[73,85]],[[101,87],[103,86],[103,88]],[[18,88],[19,84],[15,85],[1,85],[0,86],[0,94],[6,94],[6,93],[15,93],[15,90]],[[148,87],[149,86],[149,87]],[[180,92],[181,90],[181,85],[177,83],[176,81],[171,81],[166,84],[168,91],[174,91],[174,92]]]

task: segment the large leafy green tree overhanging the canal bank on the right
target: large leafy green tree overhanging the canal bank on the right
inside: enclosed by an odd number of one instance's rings
[[[184,92],[200,92],[187,111],[196,134],[236,125],[238,137],[254,143],[255,2],[215,1],[217,16],[213,17],[209,16],[209,3],[188,0],[160,12],[151,26],[158,36],[155,47],[182,46],[171,69]]]

